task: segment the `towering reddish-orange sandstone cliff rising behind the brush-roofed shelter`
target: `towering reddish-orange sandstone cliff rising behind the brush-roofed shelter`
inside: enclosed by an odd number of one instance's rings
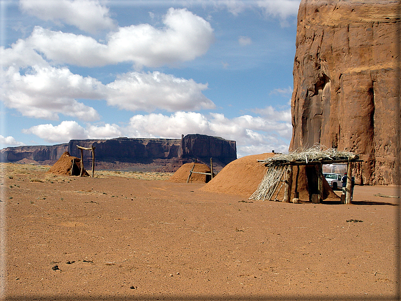
[[[355,152],[364,160],[354,168],[356,183],[399,183],[396,6],[391,0],[299,6],[290,150],[320,143]]]

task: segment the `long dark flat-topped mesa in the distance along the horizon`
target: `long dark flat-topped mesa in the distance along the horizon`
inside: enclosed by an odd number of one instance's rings
[[[237,159],[236,142],[221,137],[189,134],[181,139],[158,138],[114,138],[70,140],[69,143],[57,145],[36,145],[7,147],[0,150],[2,162],[19,162],[23,159],[40,164],[54,164],[64,152],[81,158],[77,145],[95,147],[95,163],[97,168],[130,168],[140,166],[140,170],[176,171],[182,164],[198,162],[213,164],[220,170],[231,161]],[[91,164],[91,152],[84,150],[84,164]]]

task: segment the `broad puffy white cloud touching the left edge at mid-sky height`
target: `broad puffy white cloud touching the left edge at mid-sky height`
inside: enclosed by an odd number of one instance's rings
[[[96,79],[51,66],[33,66],[25,74],[10,67],[3,74],[1,87],[7,107],[24,116],[52,120],[58,119],[59,114],[85,121],[97,120],[96,110],[75,98],[98,99],[104,95],[104,87]]]

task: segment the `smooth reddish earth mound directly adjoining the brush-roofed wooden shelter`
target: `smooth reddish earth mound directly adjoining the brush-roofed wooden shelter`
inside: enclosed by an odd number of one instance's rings
[[[240,194],[249,197],[258,188],[267,170],[257,160],[273,157],[274,153],[239,158],[222,169],[203,191]]]

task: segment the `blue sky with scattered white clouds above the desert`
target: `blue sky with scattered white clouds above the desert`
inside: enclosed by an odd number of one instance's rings
[[[288,152],[300,0],[0,0],[0,148],[235,140]]]

